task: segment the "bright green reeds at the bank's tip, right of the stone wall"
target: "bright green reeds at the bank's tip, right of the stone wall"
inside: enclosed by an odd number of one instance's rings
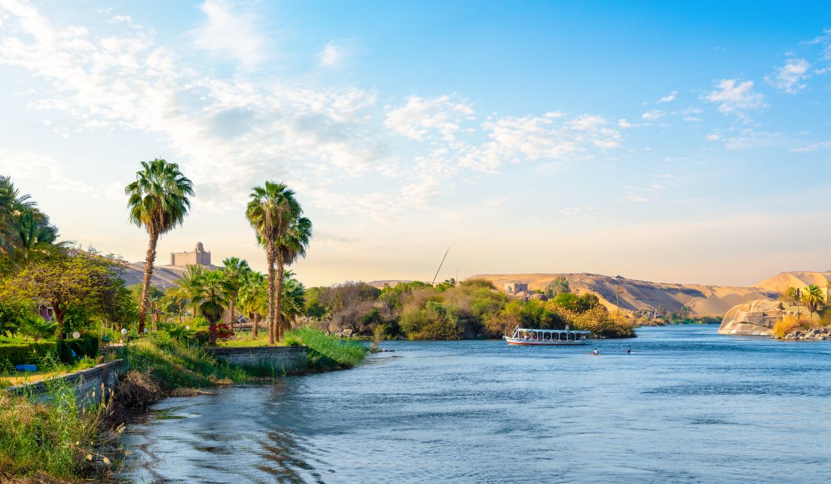
[[[307,346],[309,369],[352,368],[361,363],[368,351],[361,343],[343,341],[311,326],[289,331],[284,342]]]

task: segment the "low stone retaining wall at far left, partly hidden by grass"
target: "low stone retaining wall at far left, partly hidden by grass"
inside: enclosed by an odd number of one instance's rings
[[[99,403],[101,398],[109,398],[112,394],[124,368],[124,360],[116,359],[108,363],[96,364],[90,369],[66,374],[61,378],[75,387],[78,403]],[[43,381],[9,387],[8,391],[15,394],[31,394],[42,401],[48,400],[49,393],[47,383]]]

